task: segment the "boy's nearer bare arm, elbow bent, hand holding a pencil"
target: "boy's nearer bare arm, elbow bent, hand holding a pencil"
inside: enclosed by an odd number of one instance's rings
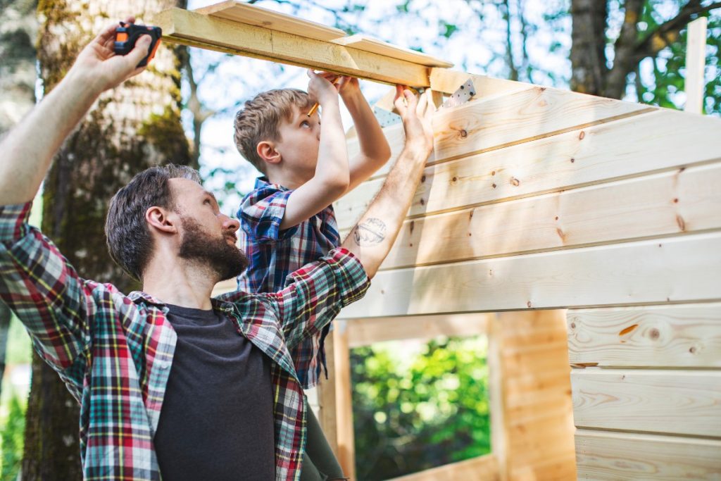
[[[348,149],[340,120],[338,92],[335,86],[314,71],[308,91],[323,107],[318,163],[314,177],[293,190],[280,229],[289,229],[311,218],[332,204],[348,189]]]

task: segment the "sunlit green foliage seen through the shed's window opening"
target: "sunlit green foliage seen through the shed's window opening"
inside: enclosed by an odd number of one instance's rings
[[[351,353],[358,480],[384,480],[490,452],[486,339]]]

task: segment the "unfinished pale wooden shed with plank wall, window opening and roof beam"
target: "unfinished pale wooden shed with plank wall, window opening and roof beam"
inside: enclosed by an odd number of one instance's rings
[[[392,253],[336,321],[320,418],[348,472],[349,349],[485,333],[492,454],[402,479],[721,480],[721,119],[451,71],[249,9],[154,21],[171,41],[438,100],[475,90],[435,115]],[[384,130],[398,154],[402,126]],[[337,203],[341,229],[386,172]]]

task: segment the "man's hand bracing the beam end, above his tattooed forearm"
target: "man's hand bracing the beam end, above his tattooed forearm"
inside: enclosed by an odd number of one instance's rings
[[[429,100],[430,90],[420,95],[420,100],[403,85],[396,86],[394,104],[403,120],[406,145],[417,146],[430,152],[433,149],[433,125],[431,118],[435,105]]]

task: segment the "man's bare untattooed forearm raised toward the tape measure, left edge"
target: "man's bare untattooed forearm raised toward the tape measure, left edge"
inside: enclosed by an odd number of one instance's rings
[[[0,205],[33,198],[53,155],[84,117],[99,90],[70,71],[0,143]]]

